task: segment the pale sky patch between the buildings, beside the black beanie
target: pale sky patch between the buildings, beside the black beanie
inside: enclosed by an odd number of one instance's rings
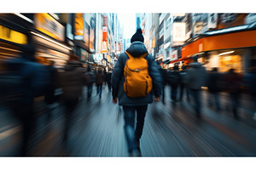
[[[131,38],[136,32],[136,14],[118,13],[121,25],[124,27],[124,37]]]

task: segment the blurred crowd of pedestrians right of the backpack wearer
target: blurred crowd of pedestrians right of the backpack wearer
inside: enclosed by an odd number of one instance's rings
[[[165,103],[165,86],[168,84],[172,88],[172,104],[186,99],[193,99],[195,114],[201,116],[201,90],[207,90],[207,105],[213,105],[217,111],[230,109],[234,118],[239,119],[238,108],[241,106],[241,94],[247,94],[253,101],[253,119],[256,120],[256,67],[251,67],[249,71],[242,75],[235,69],[227,72],[219,72],[217,67],[212,71],[206,71],[205,67],[197,61],[197,56],[193,57],[194,62],[189,65],[174,65],[172,69],[166,70],[160,67],[160,72],[164,79],[162,101]],[[180,93],[178,94],[177,91]],[[229,96],[228,104],[220,102],[220,94],[226,93]]]

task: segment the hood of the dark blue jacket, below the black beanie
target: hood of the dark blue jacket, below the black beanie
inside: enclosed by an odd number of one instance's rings
[[[133,57],[139,57],[145,53],[148,53],[148,50],[143,42],[132,42],[130,48],[126,49],[126,51]]]

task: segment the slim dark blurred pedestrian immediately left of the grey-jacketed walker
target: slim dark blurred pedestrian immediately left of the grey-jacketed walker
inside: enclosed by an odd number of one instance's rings
[[[186,76],[187,76],[187,69],[188,65],[183,65],[182,66],[182,71],[180,71],[180,95],[179,95],[179,101],[183,101],[183,94],[186,94],[186,99],[190,101],[189,98],[189,88],[187,88],[187,83],[186,83]]]

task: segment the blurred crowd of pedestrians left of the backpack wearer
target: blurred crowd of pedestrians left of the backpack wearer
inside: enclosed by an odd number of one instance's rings
[[[55,104],[62,105],[65,122],[62,142],[67,141],[72,125],[72,113],[83,98],[87,87],[90,99],[92,86],[96,85],[96,94],[102,98],[102,84],[108,84],[111,91],[111,71],[84,67],[79,56],[71,54],[64,68],[56,68],[55,61],[36,58],[36,48],[26,45],[22,54],[15,58],[1,61],[0,105],[9,108],[12,115],[20,122],[22,144],[20,156],[26,156],[29,141],[32,138],[38,116],[44,113],[50,120]]]

